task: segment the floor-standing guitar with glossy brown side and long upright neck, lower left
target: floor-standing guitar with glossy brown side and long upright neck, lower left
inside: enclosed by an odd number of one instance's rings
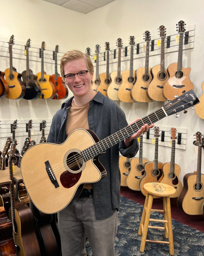
[[[12,157],[14,156],[16,140],[12,141],[8,159],[11,180],[11,208],[9,219],[13,224],[13,238],[18,256],[41,256],[38,240],[34,231],[34,218],[28,205],[15,200]]]

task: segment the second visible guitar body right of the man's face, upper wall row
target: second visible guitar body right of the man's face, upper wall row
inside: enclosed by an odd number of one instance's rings
[[[100,85],[97,88],[97,91],[100,91],[104,96],[107,95],[108,86],[111,83],[111,77],[109,73],[109,43],[106,42],[106,73],[101,73],[100,75]]]

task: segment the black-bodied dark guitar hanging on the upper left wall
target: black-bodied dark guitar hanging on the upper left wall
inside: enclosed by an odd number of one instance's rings
[[[31,40],[26,42],[26,70],[22,72],[23,83],[26,86],[25,95],[26,100],[36,100],[41,95],[41,87],[38,84],[38,76],[33,74],[33,71],[29,69],[29,48],[31,47]]]

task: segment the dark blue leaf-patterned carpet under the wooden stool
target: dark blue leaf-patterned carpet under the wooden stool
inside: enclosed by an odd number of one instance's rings
[[[119,226],[115,242],[116,256],[170,255],[168,244],[156,243],[146,243],[144,253],[140,253],[141,236],[138,235],[138,230],[142,210],[143,206],[141,204],[121,196]],[[163,214],[155,212],[151,214],[151,218],[161,218],[159,215],[163,217]],[[172,226],[175,256],[204,256],[204,233],[174,219],[172,219]],[[164,238],[164,231],[160,229],[149,229],[147,239],[167,241]],[[87,253],[90,256],[92,255],[88,244]]]

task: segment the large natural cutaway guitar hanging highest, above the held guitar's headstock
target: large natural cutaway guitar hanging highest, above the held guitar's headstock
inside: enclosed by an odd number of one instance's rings
[[[165,98],[173,100],[176,96],[180,96],[183,90],[193,90],[193,83],[189,79],[191,68],[183,68],[183,33],[185,32],[184,21],[178,22],[179,31],[179,48],[178,48],[178,62],[171,63],[168,68],[169,79],[166,81],[163,94]]]

